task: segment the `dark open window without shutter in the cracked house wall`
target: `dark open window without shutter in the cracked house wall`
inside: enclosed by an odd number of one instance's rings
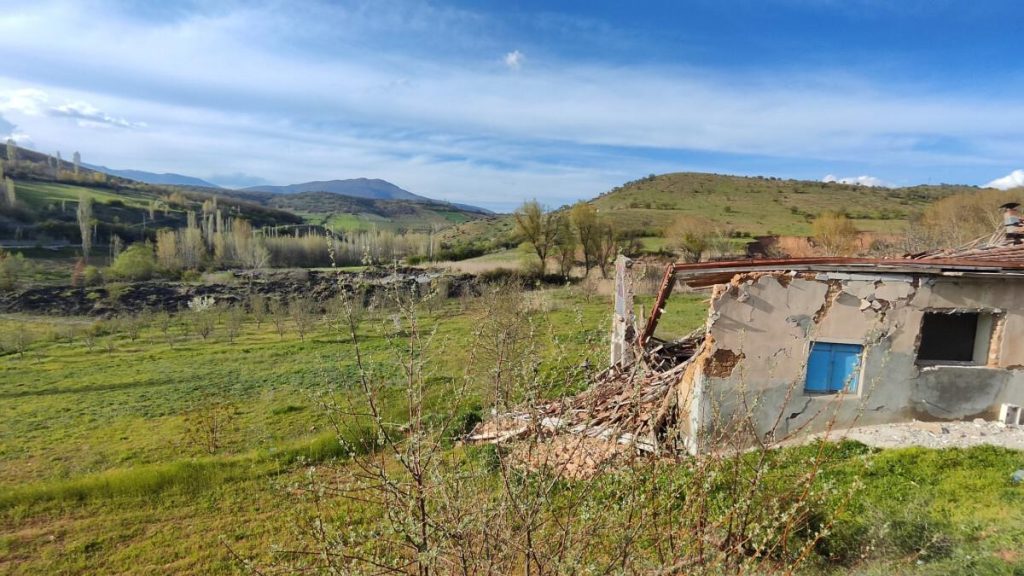
[[[992,315],[979,312],[926,312],[921,321],[919,364],[985,364]]]

